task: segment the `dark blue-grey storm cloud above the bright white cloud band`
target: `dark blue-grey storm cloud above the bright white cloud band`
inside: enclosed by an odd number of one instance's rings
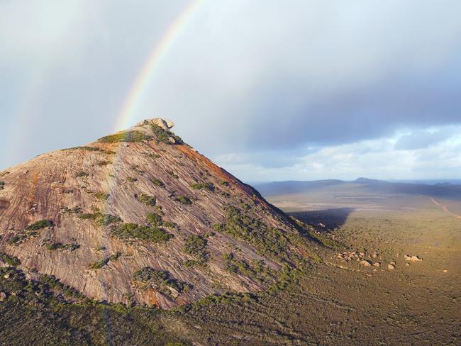
[[[461,54],[457,55],[461,61]],[[453,67],[454,68],[454,67]],[[309,102],[293,91],[270,95],[259,116],[252,117],[255,133],[252,147],[296,147],[299,144],[338,145],[392,135],[399,128],[421,128],[461,123],[461,79],[450,67],[426,76],[387,78],[366,89],[341,91],[321,102]],[[302,91],[294,91],[302,94]],[[308,98],[306,93],[306,99]],[[297,102],[291,113],[287,109]],[[291,106],[292,107],[292,106]],[[265,121],[265,118],[277,121]],[[416,149],[435,143],[447,133],[427,134],[411,145],[404,139],[397,145]],[[421,137],[421,134],[420,134]],[[414,137],[413,137],[414,138]],[[402,145],[402,147],[399,147]],[[413,147],[412,147],[413,146]]]

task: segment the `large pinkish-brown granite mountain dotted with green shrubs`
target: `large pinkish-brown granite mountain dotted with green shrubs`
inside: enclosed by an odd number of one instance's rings
[[[302,267],[301,223],[171,127],[145,120],[0,172],[0,264],[74,297],[161,308]]]

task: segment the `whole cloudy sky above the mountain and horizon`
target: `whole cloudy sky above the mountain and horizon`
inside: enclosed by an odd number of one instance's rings
[[[460,17],[457,0],[0,0],[0,169],[162,117],[245,182],[461,178]]]

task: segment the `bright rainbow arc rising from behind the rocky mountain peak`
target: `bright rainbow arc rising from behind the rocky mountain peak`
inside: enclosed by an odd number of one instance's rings
[[[177,35],[179,35],[181,30],[184,28],[189,18],[194,14],[196,9],[199,8],[201,2],[203,2],[203,0],[191,0],[188,6],[184,8],[177,19],[167,29],[160,42],[157,43],[150,52],[148,59],[140,69],[135,82],[131,86],[128,95],[123,102],[120,113],[118,113],[115,128],[116,131],[128,128],[130,125],[134,125],[131,123],[133,121],[131,117],[133,116],[133,111],[141,99],[143,90],[152,78],[160,60],[162,60],[162,57],[165,56],[168,49],[172,47],[174,39],[177,38]]]

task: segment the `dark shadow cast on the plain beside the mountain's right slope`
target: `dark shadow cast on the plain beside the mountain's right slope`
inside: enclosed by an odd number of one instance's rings
[[[348,220],[348,216],[355,208],[330,208],[320,211],[296,211],[289,215],[311,225],[322,223],[326,230],[338,228]]]

